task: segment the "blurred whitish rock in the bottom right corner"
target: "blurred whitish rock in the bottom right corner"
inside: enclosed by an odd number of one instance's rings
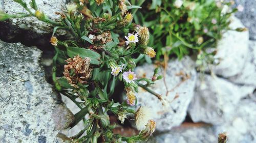
[[[224,125],[216,126],[216,132],[227,132],[228,142],[256,142],[255,100],[244,99],[236,107],[233,118]]]

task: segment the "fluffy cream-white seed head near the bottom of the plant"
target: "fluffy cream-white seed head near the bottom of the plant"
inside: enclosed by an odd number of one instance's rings
[[[146,106],[140,106],[135,113],[135,124],[138,130],[146,128],[148,120],[151,119],[151,109]]]

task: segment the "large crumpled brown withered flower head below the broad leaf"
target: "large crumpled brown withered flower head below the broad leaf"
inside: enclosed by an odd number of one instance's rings
[[[90,67],[90,58],[82,59],[79,55],[66,60],[68,63],[64,66],[64,76],[68,82],[75,88],[77,83],[87,83],[91,77],[92,68]]]

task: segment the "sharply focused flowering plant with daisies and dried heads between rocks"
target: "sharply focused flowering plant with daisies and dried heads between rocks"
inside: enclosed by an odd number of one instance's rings
[[[71,127],[83,120],[84,129],[70,137],[72,142],[137,142],[145,141],[156,128],[151,120],[150,110],[142,106],[137,111],[136,92],[141,86],[154,84],[154,80],[137,78],[133,72],[138,54],[154,58],[156,52],[147,43],[150,37],[147,27],[132,23],[131,9],[139,6],[129,5],[128,1],[76,1],[66,5],[63,12],[56,12],[59,20],[52,20],[37,8],[35,0],[29,5],[23,0],[14,0],[28,13],[9,15],[1,12],[0,19],[34,16],[37,19],[53,24],[54,30],[50,39],[56,54],[53,58],[53,81],[56,90],[69,97],[81,110],[76,113]],[[90,7],[90,9],[88,9]],[[72,37],[59,40],[57,30],[66,30]],[[144,80],[146,84],[138,83]],[[123,83],[126,101],[114,102],[112,95],[116,83]],[[155,94],[155,93],[154,93]],[[161,96],[155,94],[160,100]],[[79,100],[78,100],[79,99]],[[140,133],[136,136],[123,137],[114,134],[115,124],[110,123],[108,113],[113,113],[121,123],[127,116],[135,117]],[[86,119],[85,116],[89,115]],[[86,135],[82,134],[86,132]]]

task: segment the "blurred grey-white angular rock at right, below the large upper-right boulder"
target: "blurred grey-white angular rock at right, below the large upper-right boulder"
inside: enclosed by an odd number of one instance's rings
[[[194,122],[221,125],[232,118],[241,98],[251,94],[254,86],[236,85],[219,77],[205,75],[198,80],[188,112]]]

